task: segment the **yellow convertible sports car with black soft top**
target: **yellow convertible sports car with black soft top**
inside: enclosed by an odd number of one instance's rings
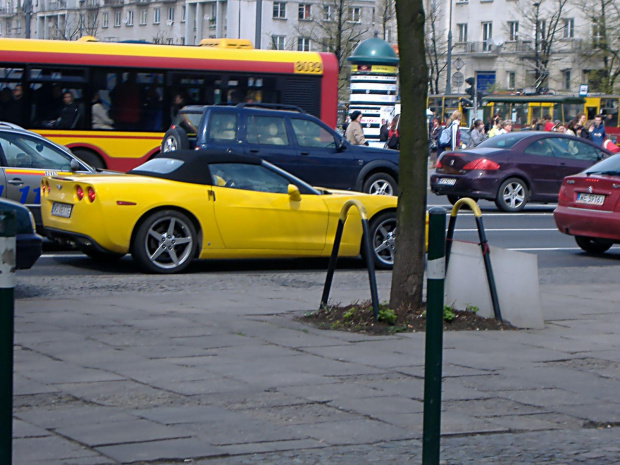
[[[378,268],[391,268],[396,197],[316,189],[252,156],[186,150],[158,155],[127,174],[41,181],[52,239],[96,259],[131,253],[150,273],[184,270],[194,258],[328,257],[349,199],[369,219]],[[360,254],[362,225],[349,210],[340,256]]]

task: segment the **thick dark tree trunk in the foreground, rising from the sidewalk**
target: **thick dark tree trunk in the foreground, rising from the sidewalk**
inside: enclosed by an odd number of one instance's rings
[[[424,48],[422,0],[397,0],[398,50],[400,52],[400,155],[398,180],[398,233],[390,307],[422,306],[424,281],[424,229],[428,134],[426,96],[428,68]]]

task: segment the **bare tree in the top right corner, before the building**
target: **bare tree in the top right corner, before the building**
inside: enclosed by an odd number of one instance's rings
[[[620,3],[617,0],[586,0],[580,3],[589,39],[588,62],[602,64],[588,76],[591,90],[613,94],[620,78]]]

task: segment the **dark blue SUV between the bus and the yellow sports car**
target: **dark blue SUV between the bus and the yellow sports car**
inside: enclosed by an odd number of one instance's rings
[[[187,148],[256,155],[314,186],[397,194],[397,151],[351,145],[297,107],[255,103],[184,107],[164,135],[161,150]]]

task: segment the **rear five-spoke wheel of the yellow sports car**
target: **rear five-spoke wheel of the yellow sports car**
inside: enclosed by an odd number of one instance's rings
[[[132,256],[147,273],[179,273],[196,255],[198,234],[192,221],[176,210],[160,210],[138,227]]]

